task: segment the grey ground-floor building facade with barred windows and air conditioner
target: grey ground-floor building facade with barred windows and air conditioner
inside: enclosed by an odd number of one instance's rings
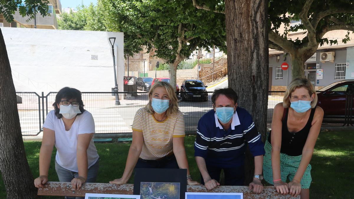
[[[289,65],[287,70],[282,65]],[[283,52],[270,53],[269,90],[285,91],[291,78],[291,57]],[[304,64],[304,76],[318,90],[344,79],[354,79],[354,45],[319,48]]]

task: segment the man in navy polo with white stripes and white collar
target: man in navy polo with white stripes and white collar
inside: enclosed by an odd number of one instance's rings
[[[252,116],[245,109],[237,107],[237,99],[236,92],[230,88],[213,92],[213,109],[198,122],[194,142],[195,160],[201,183],[207,189],[220,185],[218,181],[222,169],[225,185],[240,186],[245,179],[244,160],[248,143],[255,157],[255,175],[249,188],[261,193],[264,143]]]

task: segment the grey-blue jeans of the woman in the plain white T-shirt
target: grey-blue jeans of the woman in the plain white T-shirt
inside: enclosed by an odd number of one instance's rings
[[[86,182],[96,182],[96,177],[98,174],[99,160],[96,161],[94,165],[92,165],[89,170],[87,170],[87,180]],[[79,173],[75,171],[70,171],[64,169],[57,163],[55,160],[55,171],[57,172],[58,178],[60,182],[71,182],[75,177],[79,177]],[[66,199],[75,199],[75,197],[65,196]],[[85,197],[76,197],[76,199],[85,199]]]

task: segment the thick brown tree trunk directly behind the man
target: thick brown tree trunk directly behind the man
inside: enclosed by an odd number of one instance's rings
[[[229,87],[238,93],[239,106],[252,115],[263,141],[269,84],[267,5],[264,0],[225,0]],[[245,175],[248,185],[254,175],[254,158],[249,151]]]

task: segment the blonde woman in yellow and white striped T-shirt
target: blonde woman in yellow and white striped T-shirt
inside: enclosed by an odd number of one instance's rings
[[[134,168],[187,169],[187,184],[199,184],[190,178],[184,149],[184,120],[177,97],[169,83],[158,81],[149,91],[149,103],[134,117],[133,141],[123,176],[109,183],[125,184]]]

